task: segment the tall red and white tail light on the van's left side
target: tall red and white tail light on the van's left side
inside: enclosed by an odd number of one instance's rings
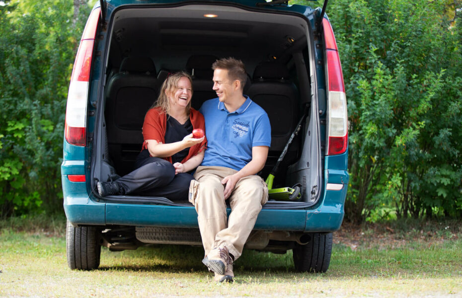
[[[86,106],[88,101],[88,82],[90,80],[91,59],[100,16],[100,8],[91,11],[83,30],[77,57],[69,84],[66,106],[65,139],[76,146],[86,145]]]

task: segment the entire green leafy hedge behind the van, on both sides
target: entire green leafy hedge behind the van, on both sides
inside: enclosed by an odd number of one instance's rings
[[[65,102],[89,13],[73,2],[0,5],[2,215],[61,209]],[[329,1],[348,99],[347,219],[462,216],[461,9],[461,0]]]

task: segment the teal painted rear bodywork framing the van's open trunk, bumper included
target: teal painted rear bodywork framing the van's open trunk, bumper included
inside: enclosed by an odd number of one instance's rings
[[[257,9],[255,4],[257,2],[264,3],[264,1],[254,0],[223,0],[223,1],[158,1],[158,0],[111,0],[106,1],[106,20],[109,20],[113,11],[122,5],[173,5],[175,3],[181,4],[230,4],[239,5],[241,8]],[[99,7],[99,2],[95,4]],[[262,8],[258,8],[262,9]],[[314,29],[314,9],[302,5],[268,5],[263,9],[274,11],[286,11],[298,13],[305,16],[312,30]],[[318,8],[319,9],[319,8]],[[97,33],[102,39],[106,38],[106,32]],[[314,39],[315,44],[322,44],[321,39]],[[99,42],[95,51],[99,55],[93,55],[92,69],[100,70],[102,68],[102,57],[105,55],[105,48],[108,43]],[[313,47],[313,54],[315,61],[323,60],[323,50],[321,47]],[[325,119],[325,78],[323,64],[316,63],[314,65],[316,73],[316,81],[313,86],[317,91],[315,97],[319,96],[319,118]],[[103,79],[102,71],[92,71],[89,89],[89,102],[88,103],[88,123],[87,133],[88,138],[92,138],[95,127],[95,118],[92,117],[92,112],[96,111],[98,103],[95,98],[100,98],[99,92],[102,90],[100,87],[100,80]],[[104,79],[103,79],[104,80]],[[93,114],[94,115],[94,114]],[[325,125],[322,122],[320,126],[321,140],[325,139]],[[164,206],[154,204],[130,204],[130,203],[106,203],[106,200],[99,198],[94,193],[94,182],[89,181],[90,167],[89,161],[92,152],[92,142],[88,142],[87,147],[73,146],[64,141],[63,148],[63,163],[61,166],[62,171],[62,186],[64,194],[64,209],[68,220],[73,224],[82,225],[153,225],[153,226],[170,226],[170,227],[197,227],[197,213],[194,207],[191,206]],[[337,230],[342,223],[344,216],[344,201],[348,186],[348,172],[347,172],[347,158],[348,151],[333,156],[322,157],[322,184],[319,186],[321,189],[320,197],[314,206],[301,210],[278,210],[278,209],[265,209],[263,207],[260,212],[254,229],[260,230],[289,230],[289,231],[307,231],[307,232],[332,232]],[[69,174],[85,174],[87,177],[86,182],[71,182],[67,178]],[[327,183],[341,183],[343,188],[338,191],[325,190]],[[93,186],[91,186],[93,185]],[[231,210],[228,208],[228,214]]]

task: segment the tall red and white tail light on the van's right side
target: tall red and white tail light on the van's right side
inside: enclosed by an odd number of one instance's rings
[[[330,22],[322,19],[327,62],[327,154],[335,155],[346,151],[348,146],[348,115],[343,83],[342,66],[338,56],[337,43]]]

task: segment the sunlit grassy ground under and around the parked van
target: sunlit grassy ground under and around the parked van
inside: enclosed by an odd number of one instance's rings
[[[292,253],[244,251],[229,285],[186,246],[103,248],[98,270],[72,271],[64,219],[40,221],[0,222],[0,297],[462,297],[461,223],[345,225],[324,274],[295,272]]]

